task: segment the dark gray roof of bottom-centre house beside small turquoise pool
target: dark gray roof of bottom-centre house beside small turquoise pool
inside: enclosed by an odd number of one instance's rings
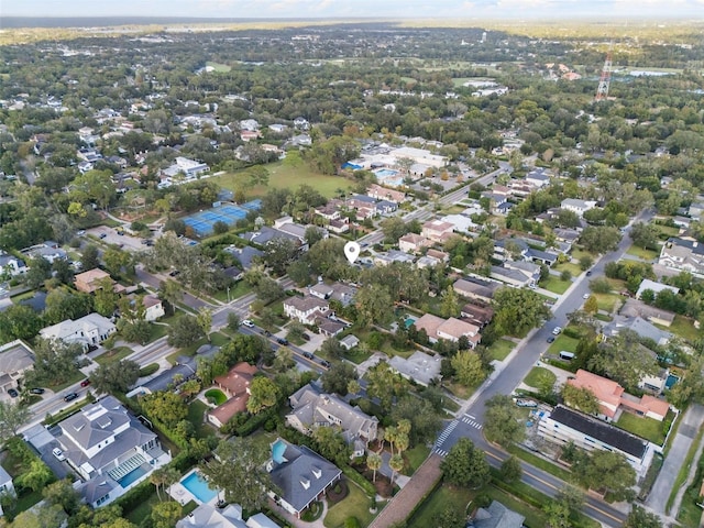
[[[284,459],[286,461],[280,464],[273,463],[271,477],[282,498],[297,512],[304,510],[342,473],[332,462],[305,446],[286,442]]]

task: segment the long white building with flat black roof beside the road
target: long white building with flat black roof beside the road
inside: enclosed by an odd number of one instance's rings
[[[585,451],[620,453],[640,475],[648,470],[653,454],[646,440],[561,405],[542,416],[538,436],[559,446],[574,442]]]

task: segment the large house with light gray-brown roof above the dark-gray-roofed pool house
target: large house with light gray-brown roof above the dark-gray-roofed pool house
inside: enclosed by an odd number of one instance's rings
[[[308,384],[288,397],[292,413],[286,422],[304,435],[316,427],[338,427],[352,448],[352,457],[362,457],[371,441],[376,440],[378,419],[353,407],[334,394],[324,394]]]

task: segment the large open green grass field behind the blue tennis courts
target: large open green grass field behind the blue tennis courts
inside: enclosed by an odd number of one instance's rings
[[[334,197],[339,189],[348,190],[352,187],[352,182],[349,179],[344,179],[340,176],[328,176],[316,173],[305,163],[297,167],[293,167],[282,162],[277,162],[265,165],[265,167],[270,173],[268,185],[258,185],[248,189],[245,193],[248,199],[262,197],[270,188],[297,189],[302,184],[311,186],[327,198]],[[226,189],[235,190],[239,188],[238,180],[245,178],[246,176],[242,173],[228,173],[213,179],[216,179]]]

